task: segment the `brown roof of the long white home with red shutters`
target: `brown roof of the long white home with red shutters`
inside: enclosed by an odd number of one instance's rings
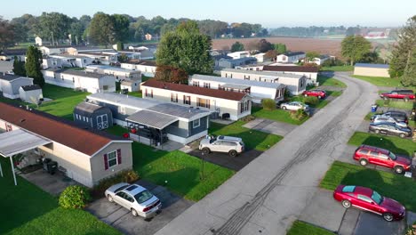
[[[180,92],[180,93],[195,93],[195,94],[211,96],[215,98],[232,100],[232,101],[241,101],[245,96],[245,93],[234,93],[234,92],[228,92],[228,91],[223,91],[223,90],[198,87],[198,86],[193,86],[193,85],[165,83],[165,82],[157,81],[155,78],[146,81],[142,85],[148,86],[148,87],[166,89],[168,91],[175,91],[175,92]]]

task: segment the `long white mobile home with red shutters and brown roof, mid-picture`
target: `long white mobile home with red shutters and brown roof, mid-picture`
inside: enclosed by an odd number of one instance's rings
[[[143,98],[174,102],[188,107],[210,110],[215,117],[238,120],[251,114],[252,98],[247,93],[234,93],[210,88],[148,80],[141,85]]]

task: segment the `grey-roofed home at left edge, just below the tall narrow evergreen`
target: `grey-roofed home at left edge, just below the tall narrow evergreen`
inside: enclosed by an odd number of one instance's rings
[[[0,73],[0,92],[9,99],[20,98],[19,89],[22,85],[33,85],[33,78]]]

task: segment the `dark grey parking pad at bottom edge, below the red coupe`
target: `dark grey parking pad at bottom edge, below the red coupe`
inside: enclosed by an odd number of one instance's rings
[[[387,222],[380,215],[361,212],[356,223],[356,235],[401,235],[404,234],[405,220]]]

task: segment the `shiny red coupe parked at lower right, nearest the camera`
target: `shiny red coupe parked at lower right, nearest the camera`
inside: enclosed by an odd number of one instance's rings
[[[357,207],[372,212],[390,222],[401,220],[406,208],[394,199],[381,196],[377,191],[354,185],[339,185],[333,191],[333,199],[341,202],[342,207]]]

